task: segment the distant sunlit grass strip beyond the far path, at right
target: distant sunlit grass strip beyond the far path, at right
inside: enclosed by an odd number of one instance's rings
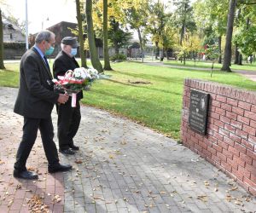
[[[188,66],[188,67],[201,67],[201,68],[212,68],[212,62],[211,61],[198,61],[196,62],[194,60],[186,60],[185,65],[183,62],[181,63],[180,60],[164,60],[164,64],[166,65],[172,65],[172,66]],[[214,62],[213,68],[214,69],[220,69],[222,67],[222,64],[218,64],[218,62]],[[247,70],[247,71],[255,71],[256,72],[256,62],[253,64],[249,64],[247,62],[243,63],[243,66],[232,64],[230,66],[231,70]]]

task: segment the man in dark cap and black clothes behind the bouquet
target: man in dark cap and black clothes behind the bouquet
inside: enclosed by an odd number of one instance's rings
[[[56,56],[53,65],[54,77],[64,76],[68,70],[79,67],[74,56],[77,54],[79,43],[76,37],[64,37],[61,41],[61,52]],[[58,139],[59,151],[63,154],[74,154],[79,147],[73,143],[73,137],[79,130],[81,120],[79,100],[83,98],[83,92],[77,94],[76,107],[72,107],[72,98],[69,97],[65,105],[56,105],[58,112]]]

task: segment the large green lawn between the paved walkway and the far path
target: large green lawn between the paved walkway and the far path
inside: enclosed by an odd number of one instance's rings
[[[256,90],[253,81],[234,72],[214,71],[211,78],[210,71],[189,70],[189,67],[158,67],[137,62],[111,66],[113,71],[105,72],[110,78],[94,82],[90,91],[84,91],[82,102],[131,118],[176,140],[179,139],[184,78]],[[6,64],[9,71],[0,70],[1,86],[18,86],[18,67],[18,64]]]

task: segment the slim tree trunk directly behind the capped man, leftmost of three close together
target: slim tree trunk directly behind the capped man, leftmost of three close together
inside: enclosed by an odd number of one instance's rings
[[[86,64],[86,57],[84,56],[84,37],[83,37],[83,25],[82,25],[82,17],[81,17],[81,9],[80,9],[80,0],[76,0],[76,6],[77,6],[77,20],[79,25],[79,53],[81,58],[81,66],[84,68],[87,68]]]

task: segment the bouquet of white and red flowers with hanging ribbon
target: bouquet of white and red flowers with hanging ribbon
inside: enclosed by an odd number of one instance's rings
[[[52,81],[55,83],[55,89],[64,91],[72,96],[71,105],[72,107],[76,107],[77,93],[88,87],[96,78],[99,78],[96,69],[79,67],[73,71],[68,70],[64,76],[58,76],[59,80],[53,79]]]

